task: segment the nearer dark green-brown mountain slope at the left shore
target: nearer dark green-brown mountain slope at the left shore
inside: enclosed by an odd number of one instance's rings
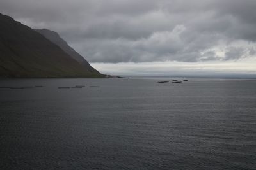
[[[0,13],[0,77],[103,78],[105,76],[77,62],[42,34]]]

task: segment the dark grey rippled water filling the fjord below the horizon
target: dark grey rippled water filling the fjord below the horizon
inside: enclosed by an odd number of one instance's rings
[[[1,80],[0,169],[256,169],[256,81],[157,81]]]

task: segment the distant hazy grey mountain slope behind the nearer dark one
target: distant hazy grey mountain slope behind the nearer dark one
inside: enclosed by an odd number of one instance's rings
[[[60,46],[60,48],[66,52],[68,55],[70,55],[73,59],[75,59],[77,62],[82,64],[84,67],[86,67],[88,70],[93,72],[98,72],[95,70],[90,64],[84,59],[83,56],[81,56],[79,53],[77,53],[73,48],[71,48],[68,43],[60,37],[60,35],[57,32],[51,31],[49,29],[35,29],[35,31],[42,34],[45,38],[52,41],[52,43]]]

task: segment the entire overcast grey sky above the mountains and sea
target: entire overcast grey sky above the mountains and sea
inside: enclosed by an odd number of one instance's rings
[[[255,0],[1,0],[0,13],[60,34],[122,75],[256,75]]]

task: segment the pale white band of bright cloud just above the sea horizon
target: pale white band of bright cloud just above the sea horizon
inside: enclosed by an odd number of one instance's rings
[[[215,62],[123,62],[92,63],[102,73],[112,75],[147,76],[214,76],[251,75],[256,76],[256,58],[236,61]]]

